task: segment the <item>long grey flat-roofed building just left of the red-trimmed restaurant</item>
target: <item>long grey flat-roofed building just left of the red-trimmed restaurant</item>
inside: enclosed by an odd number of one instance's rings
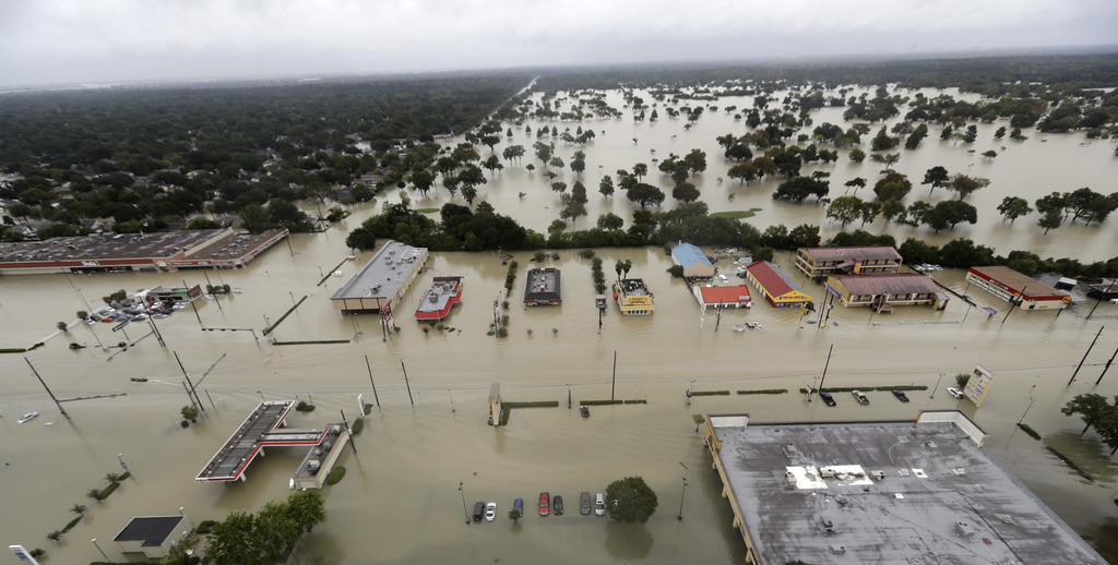
[[[389,240],[330,297],[330,301],[342,314],[390,310],[423,271],[427,259],[427,248]]]

